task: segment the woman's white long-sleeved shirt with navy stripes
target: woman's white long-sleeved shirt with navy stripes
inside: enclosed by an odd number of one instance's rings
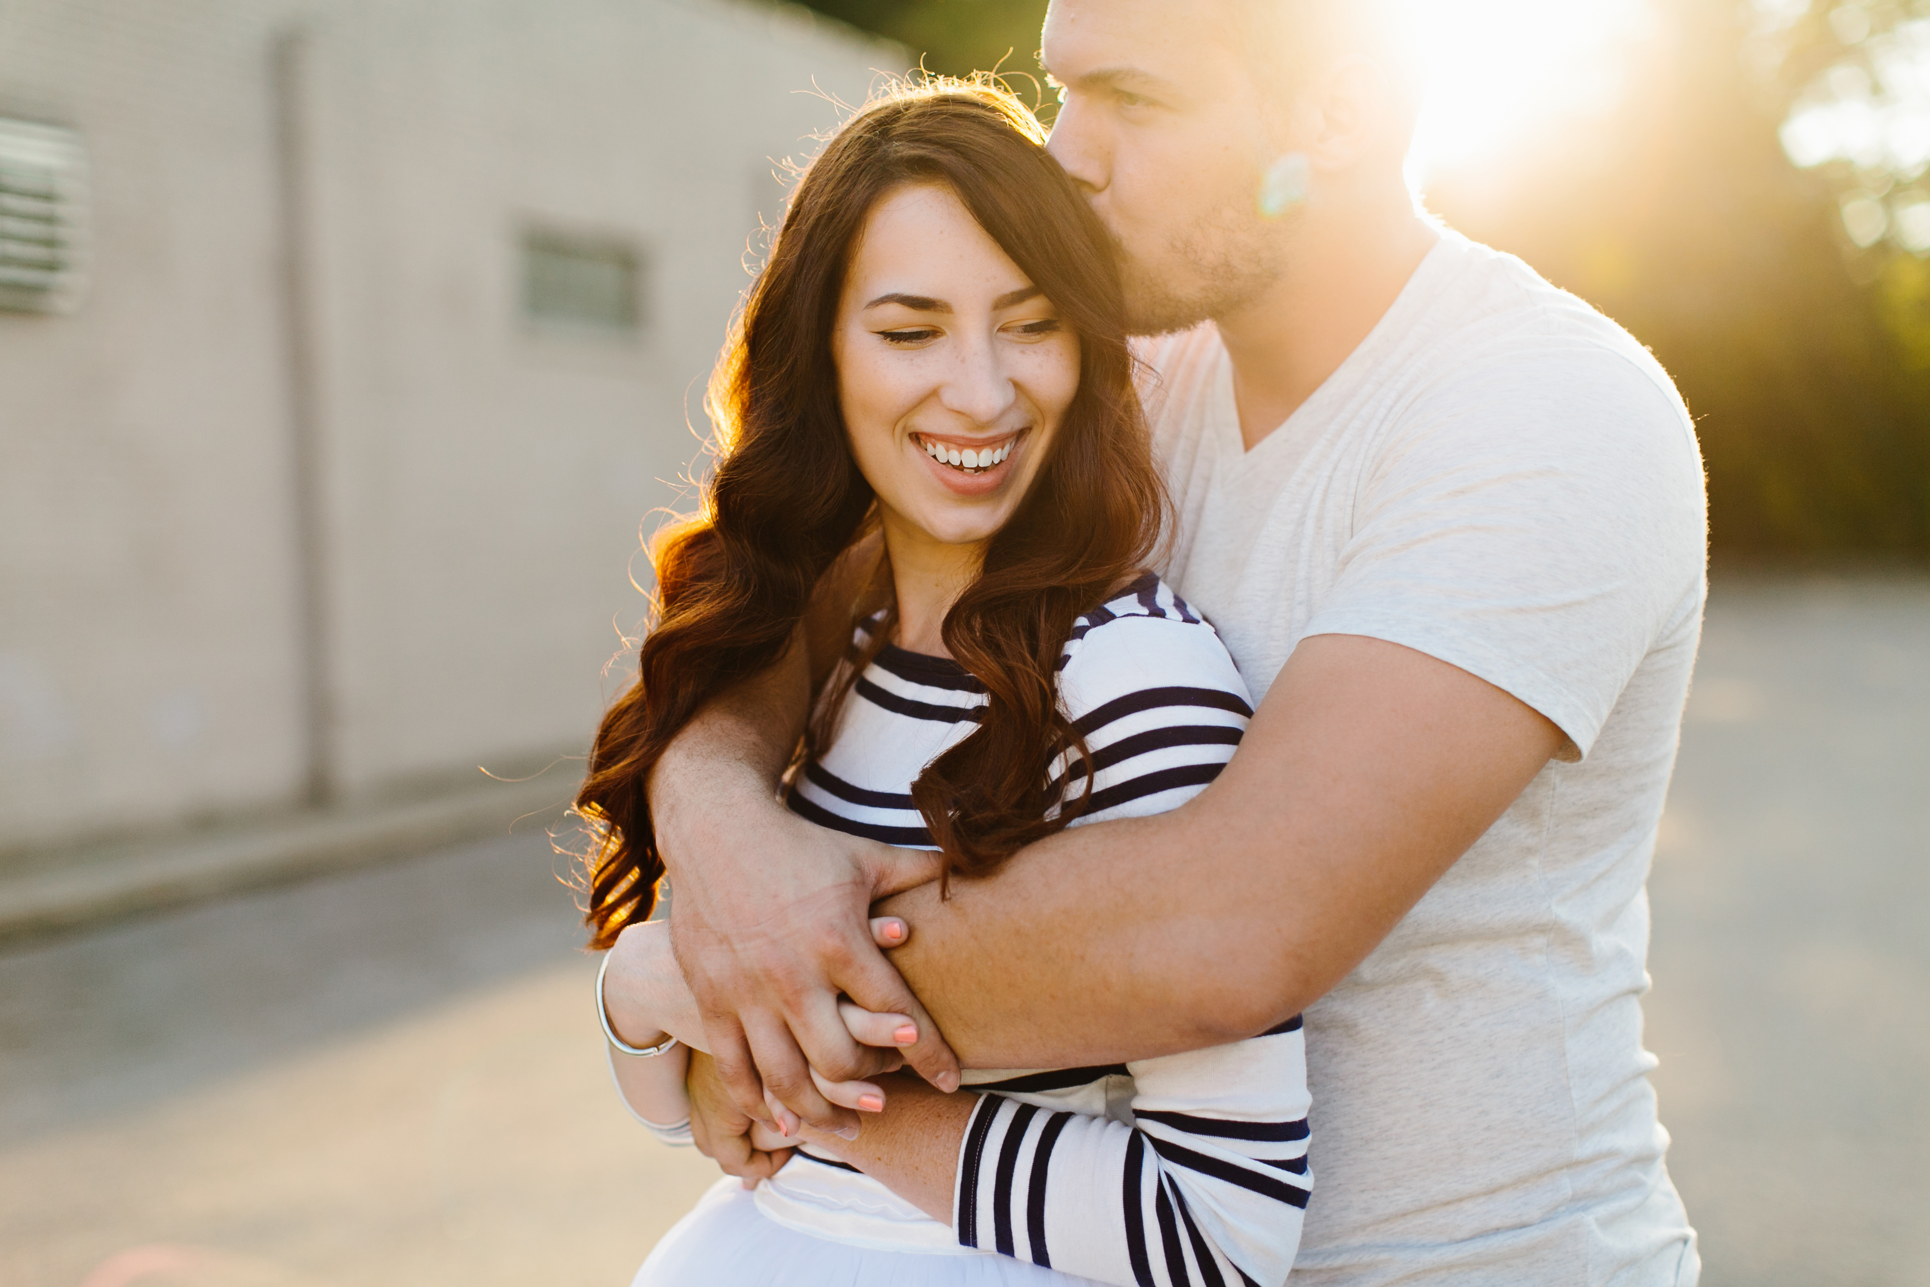
[[[853,835],[932,847],[911,783],[971,735],[984,700],[957,662],[886,644],[845,698],[832,745],[793,776],[789,807]],[[1152,575],[1079,617],[1060,660],[1060,700],[1094,766],[1073,826],[1175,808],[1218,776],[1253,714],[1220,637]],[[1083,772],[1073,768],[1067,801],[1079,799]],[[896,1198],[865,1175],[820,1171],[849,1167],[809,1150],[801,1158],[820,1167],[786,1167],[760,1206],[828,1237],[934,1250],[940,1233],[955,1235],[963,1248],[1102,1283],[1285,1279],[1312,1187],[1299,1019],[1212,1050],[1110,1067],[975,1069],[965,1084],[980,1100],[959,1152],[951,1231],[892,1208]]]

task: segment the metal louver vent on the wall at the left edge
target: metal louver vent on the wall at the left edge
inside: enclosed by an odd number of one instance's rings
[[[0,118],[0,309],[66,313],[87,266],[87,152],[71,129]]]

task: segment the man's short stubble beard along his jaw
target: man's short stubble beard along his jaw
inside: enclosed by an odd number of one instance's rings
[[[1156,259],[1112,233],[1127,332],[1168,336],[1251,305],[1285,276],[1293,222],[1220,206],[1170,233]]]

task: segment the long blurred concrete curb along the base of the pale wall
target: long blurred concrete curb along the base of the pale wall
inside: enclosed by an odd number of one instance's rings
[[[73,851],[0,872],[0,945],[342,872],[490,834],[562,822],[575,781],[490,781],[386,807],[286,814],[245,828]]]

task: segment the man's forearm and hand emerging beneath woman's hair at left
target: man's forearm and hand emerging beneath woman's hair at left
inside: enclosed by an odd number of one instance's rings
[[[697,996],[716,1075],[757,1121],[770,1121],[768,1088],[805,1123],[853,1131],[857,1115],[818,1094],[811,1067],[843,1082],[903,1057],[934,1084],[957,1086],[957,1059],[868,924],[872,899],[936,878],[936,855],[828,832],[776,799],[811,695],[849,646],[851,608],[876,583],[878,558],[870,538],[840,560],[784,660],[712,700],[650,778],[677,963]],[[621,940],[612,957],[610,1017],[641,1025],[647,998],[625,986],[639,972]],[[911,1015],[917,1044],[853,1042],[838,1015],[840,992],[870,1011]]]

